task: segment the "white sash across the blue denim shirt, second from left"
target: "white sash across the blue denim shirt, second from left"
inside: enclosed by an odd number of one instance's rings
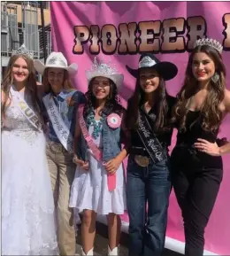
[[[60,116],[53,98],[50,97],[50,93],[43,97],[42,100],[60,143],[65,147],[66,151],[73,154],[73,136],[69,129],[66,127],[64,120]]]

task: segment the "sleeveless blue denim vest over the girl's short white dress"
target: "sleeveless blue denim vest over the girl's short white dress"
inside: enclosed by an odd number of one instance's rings
[[[120,127],[115,129],[110,128],[107,125],[106,120],[102,120],[102,125],[103,125],[103,128],[102,128],[103,161],[107,162],[115,158],[121,151]],[[87,124],[87,128],[88,128],[88,124]],[[87,149],[88,149],[88,144],[81,134],[77,144],[77,149],[76,149],[77,156],[79,159],[82,159],[84,161],[88,160]]]

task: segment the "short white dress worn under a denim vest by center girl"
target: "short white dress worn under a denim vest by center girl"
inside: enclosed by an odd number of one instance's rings
[[[98,120],[99,121],[99,120]],[[96,121],[97,122],[97,121]],[[93,126],[89,126],[91,136]],[[102,144],[102,134],[93,139],[96,146]],[[71,189],[70,207],[82,212],[84,209],[93,210],[98,214],[123,214],[126,210],[126,184],[123,164],[119,166],[116,177],[116,189],[108,190],[107,172],[101,162],[98,162],[88,150],[88,171],[77,166]]]

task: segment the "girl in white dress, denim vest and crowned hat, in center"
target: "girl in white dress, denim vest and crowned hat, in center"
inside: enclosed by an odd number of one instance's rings
[[[106,214],[109,229],[108,255],[118,255],[121,221],[126,210],[125,175],[122,165],[121,122],[124,113],[118,89],[123,82],[114,66],[96,58],[88,79],[87,103],[78,111],[75,130],[77,164],[70,207],[83,212],[81,255],[93,255],[96,214]]]

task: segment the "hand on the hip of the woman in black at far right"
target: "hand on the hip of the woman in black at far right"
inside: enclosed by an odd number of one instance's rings
[[[211,144],[210,142],[204,140],[204,139],[197,139],[197,143],[194,144],[196,149],[198,151],[202,151],[206,154],[209,154],[213,157],[219,157],[220,156],[220,151],[219,151],[219,146],[217,143]]]

